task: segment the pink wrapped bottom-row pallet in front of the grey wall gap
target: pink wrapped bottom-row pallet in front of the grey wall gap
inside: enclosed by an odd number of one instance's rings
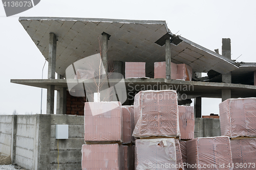
[[[193,165],[198,165],[194,168]],[[224,167],[220,166],[224,165]],[[188,169],[233,169],[228,136],[202,137],[187,141]]]

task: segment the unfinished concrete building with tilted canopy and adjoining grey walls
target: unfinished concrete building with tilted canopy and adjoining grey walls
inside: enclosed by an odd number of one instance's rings
[[[231,60],[229,38],[222,39],[220,55],[173,34],[165,21],[20,17],[19,22],[48,61],[48,79],[12,79],[11,83],[47,89],[47,114],[1,115],[0,125],[5,124],[7,130],[0,135],[7,140],[0,142],[0,152],[6,155],[10,152],[14,163],[29,169],[57,168],[54,126],[57,124],[70,125],[69,139],[58,143],[60,167],[81,168],[83,118],[76,115],[83,115],[86,100],[83,96],[70,95],[66,69],[97,53],[101,54],[105,68],[111,63],[116,68],[114,72],[123,77],[125,62],[146,63],[146,79],[124,79],[126,93],[131,92],[131,96],[139,92],[142,85],[148,85],[154,90],[173,87],[180,94],[180,105],[190,104],[191,99],[195,99],[195,137],[220,135],[219,119],[201,118],[202,98],[221,98],[224,101],[256,96],[256,64]],[[163,61],[166,63],[166,77],[155,79],[154,63]],[[190,66],[193,70],[191,81],[173,80],[171,62]],[[208,76],[201,77],[202,72]],[[77,80],[72,81],[77,83]],[[119,80],[110,81],[118,83]],[[57,115],[53,115],[54,90],[57,90]],[[183,99],[182,94],[186,98]],[[129,98],[124,103],[132,104],[133,99]],[[32,147],[27,147],[28,143]]]

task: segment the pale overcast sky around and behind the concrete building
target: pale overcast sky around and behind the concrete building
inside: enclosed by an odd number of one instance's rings
[[[0,5],[0,114],[40,113],[41,89],[10,83],[10,79],[41,79],[45,58],[18,22],[19,16],[165,20],[172,33],[211,51],[222,38],[231,39],[231,59],[256,62],[256,1],[65,1],[41,2],[11,17]],[[47,79],[47,67],[44,79]],[[46,113],[46,90],[42,98]],[[221,99],[203,99],[202,114],[219,113]],[[55,108],[56,109],[56,108]]]

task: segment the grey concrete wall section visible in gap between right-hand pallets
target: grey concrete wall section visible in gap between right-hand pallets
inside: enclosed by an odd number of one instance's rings
[[[221,136],[219,118],[195,118],[194,137]]]

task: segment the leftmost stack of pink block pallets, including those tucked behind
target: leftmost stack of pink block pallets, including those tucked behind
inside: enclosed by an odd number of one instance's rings
[[[120,102],[86,102],[82,169],[123,169],[124,162],[133,163],[133,150],[123,145],[131,145],[133,119],[131,107]]]

